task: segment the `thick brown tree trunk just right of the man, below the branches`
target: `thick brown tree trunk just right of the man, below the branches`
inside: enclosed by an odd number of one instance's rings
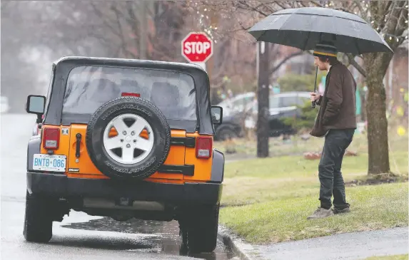
[[[389,173],[388,120],[386,118],[386,93],[383,85],[388,64],[392,56],[388,53],[364,55],[368,98],[368,175]]]

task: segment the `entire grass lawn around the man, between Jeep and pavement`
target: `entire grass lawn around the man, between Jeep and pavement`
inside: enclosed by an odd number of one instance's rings
[[[390,158],[391,170],[407,180],[407,148]],[[345,182],[365,179],[367,169],[365,153],[345,157]],[[307,220],[319,205],[320,184],[318,160],[302,156],[228,163],[224,184],[220,221],[254,244],[408,226],[408,182],[347,187],[350,214]]]

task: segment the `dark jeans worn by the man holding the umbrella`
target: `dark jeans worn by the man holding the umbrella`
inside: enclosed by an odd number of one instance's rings
[[[318,165],[320,178],[321,207],[330,209],[331,197],[336,209],[345,209],[349,204],[345,200],[345,183],[341,173],[343,155],[353,139],[355,129],[329,130],[325,136],[323,152]]]

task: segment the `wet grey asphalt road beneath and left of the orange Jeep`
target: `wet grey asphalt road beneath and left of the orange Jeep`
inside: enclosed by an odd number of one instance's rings
[[[71,211],[54,222],[49,244],[24,240],[26,149],[34,115],[1,114],[1,259],[232,259],[218,242],[213,254],[186,256],[177,222],[127,221]]]

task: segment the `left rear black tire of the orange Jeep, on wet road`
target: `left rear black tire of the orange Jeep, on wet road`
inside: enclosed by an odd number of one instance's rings
[[[48,197],[26,192],[24,238],[26,241],[47,243],[53,236],[52,203]]]

